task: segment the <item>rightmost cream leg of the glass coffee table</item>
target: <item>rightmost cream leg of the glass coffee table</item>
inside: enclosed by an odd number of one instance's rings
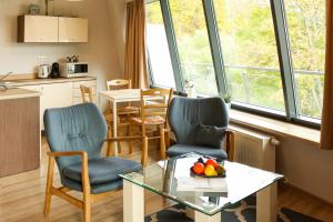
[[[256,221],[276,222],[276,182],[256,193]]]

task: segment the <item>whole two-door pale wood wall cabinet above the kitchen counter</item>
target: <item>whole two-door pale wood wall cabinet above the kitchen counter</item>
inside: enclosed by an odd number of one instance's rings
[[[18,42],[88,42],[88,19],[20,16]]]

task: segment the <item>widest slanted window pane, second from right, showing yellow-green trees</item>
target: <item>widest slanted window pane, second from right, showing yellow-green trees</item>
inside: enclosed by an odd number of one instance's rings
[[[270,1],[214,0],[214,8],[232,99],[284,111]]]

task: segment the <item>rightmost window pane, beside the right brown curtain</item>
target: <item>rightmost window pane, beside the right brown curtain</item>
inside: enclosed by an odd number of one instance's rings
[[[301,115],[321,118],[325,57],[325,0],[284,0],[296,104]]]

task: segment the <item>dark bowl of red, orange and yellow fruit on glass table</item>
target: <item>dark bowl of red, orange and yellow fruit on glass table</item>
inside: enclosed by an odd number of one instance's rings
[[[199,158],[190,169],[191,175],[201,178],[225,178],[223,161],[210,158]]]

